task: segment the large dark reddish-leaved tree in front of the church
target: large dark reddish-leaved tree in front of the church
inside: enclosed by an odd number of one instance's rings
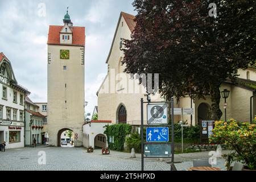
[[[220,85],[255,64],[254,0],[135,0],[131,40],[125,40],[126,73],[159,73],[159,93],[212,100],[210,118],[221,118]],[[210,11],[211,12],[211,11]],[[144,85],[146,86],[146,85]]]

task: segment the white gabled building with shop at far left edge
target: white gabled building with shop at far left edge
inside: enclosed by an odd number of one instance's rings
[[[0,142],[6,148],[24,147],[24,98],[28,92],[19,85],[11,62],[0,53]]]

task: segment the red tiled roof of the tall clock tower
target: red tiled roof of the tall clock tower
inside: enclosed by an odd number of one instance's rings
[[[60,44],[60,31],[63,26],[49,26],[47,44]],[[85,27],[73,27],[73,46],[85,46]]]

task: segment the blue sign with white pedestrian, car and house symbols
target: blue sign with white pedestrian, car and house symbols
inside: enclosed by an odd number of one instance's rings
[[[147,127],[147,142],[169,142],[168,127]]]

